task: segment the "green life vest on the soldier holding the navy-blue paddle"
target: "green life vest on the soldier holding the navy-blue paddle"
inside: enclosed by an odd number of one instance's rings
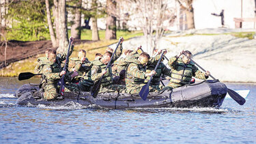
[[[135,63],[137,65],[137,67],[139,68],[139,70],[146,72],[146,68],[143,67],[141,65],[141,63],[139,63],[138,60],[132,61],[132,63]],[[126,68],[126,81],[129,81],[129,83],[132,85],[139,85],[141,83],[144,83],[145,78],[137,78],[137,77],[132,76],[132,74],[130,74],[130,72],[128,71],[128,67],[130,66],[130,64],[131,63],[129,63]]]

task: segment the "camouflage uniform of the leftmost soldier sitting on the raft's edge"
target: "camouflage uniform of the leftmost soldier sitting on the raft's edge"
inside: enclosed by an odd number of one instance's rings
[[[45,81],[42,85],[42,89],[44,89],[44,99],[45,100],[53,100],[58,96],[58,82],[61,76],[59,73],[62,71],[61,66],[57,63],[48,63],[44,66],[42,70],[42,74],[45,77]],[[66,74],[66,78],[70,79],[68,74]]]

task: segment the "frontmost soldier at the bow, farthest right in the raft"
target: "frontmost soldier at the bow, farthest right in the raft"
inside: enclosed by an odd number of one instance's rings
[[[180,58],[180,55],[182,55]],[[186,84],[190,84],[192,76],[195,76],[199,79],[207,79],[210,75],[210,72],[201,72],[198,70],[195,63],[190,61],[192,54],[190,51],[182,51],[180,55],[171,57],[169,59],[168,65],[171,67],[171,79],[168,84],[169,87],[173,89],[175,87],[181,87]]]

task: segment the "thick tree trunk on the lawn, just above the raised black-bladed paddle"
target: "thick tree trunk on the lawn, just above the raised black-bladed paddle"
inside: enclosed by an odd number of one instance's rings
[[[113,12],[115,12],[116,3],[112,0],[106,0],[106,13],[108,16],[106,17],[106,40],[115,40],[117,39],[116,35],[116,20],[115,16],[113,16]]]

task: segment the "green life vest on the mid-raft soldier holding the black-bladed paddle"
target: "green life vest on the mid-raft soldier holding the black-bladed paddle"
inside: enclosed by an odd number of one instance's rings
[[[102,63],[100,60],[92,61],[93,66],[98,66],[98,71],[97,73],[101,73],[103,70],[106,69],[106,65]],[[112,69],[111,67],[107,69],[106,74],[104,74],[101,85],[102,86],[107,86],[111,85],[113,83],[113,75],[112,75]]]

